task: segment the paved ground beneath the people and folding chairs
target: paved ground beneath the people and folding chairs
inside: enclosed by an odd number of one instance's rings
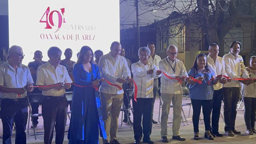
[[[190,100],[185,100],[183,99],[183,103],[187,103],[190,102]],[[41,107],[39,108],[41,110]],[[183,107],[184,112],[186,117],[188,118],[188,111],[189,111],[189,106],[185,106]],[[222,103],[222,109],[221,109],[222,113],[223,113],[223,103]],[[155,109],[154,109],[154,119],[158,120],[158,113],[159,113],[159,99],[156,99],[156,103],[155,103]],[[189,116],[189,118],[192,117],[193,114],[193,110],[191,108],[191,114]],[[203,115],[201,113],[201,118],[203,118]],[[172,108],[170,110],[170,115],[169,115],[169,121],[172,121]],[[120,113],[120,117],[119,117],[119,125],[121,124],[121,113]],[[168,132],[169,132],[169,144],[190,144],[190,143],[220,143],[220,144],[224,144],[224,143],[229,143],[229,144],[249,144],[249,143],[253,143],[255,144],[256,142],[256,134],[249,136],[247,134],[245,134],[245,124],[244,124],[244,110],[242,110],[242,108],[239,108],[237,111],[237,117],[236,117],[236,129],[241,131],[242,134],[241,135],[236,135],[235,137],[227,137],[224,136],[222,138],[215,138],[214,140],[208,140],[204,138],[204,122],[203,124],[200,123],[199,125],[199,131],[200,131],[200,140],[194,140],[193,139],[193,124],[192,124],[192,120],[188,120],[188,124],[183,125],[181,123],[180,126],[180,134],[182,137],[186,138],[186,141],[177,141],[177,140],[172,140],[172,124],[169,124],[169,128],[168,128]],[[222,118],[220,117],[220,133],[224,133],[224,122],[222,120]],[[67,126],[66,126],[66,130],[68,130],[68,126],[69,126],[69,120],[67,120]],[[126,124],[124,124],[123,126],[127,126]],[[161,142],[161,136],[160,136],[160,131],[161,131],[161,125],[155,124],[155,127],[152,128],[152,134],[151,134],[151,140],[153,140],[156,144],[160,144]],[[43,131],[43,119],[42,117],[39,118],[39,124],[38,127],[36,128],[36,132],[41,132]],[[29,128],[29,131],[32,133],[33,129]],[[64,138],[64,144],[68,144],[68,139],[67,139],[67,132],[65,133],[65,138]],[[0,135],[2,135],[2,122],[0,122]],[[134,142],[134,138],[133,138],[133,131],[131,131],[130,128],[123,128],[123,129],[119,129],[118,133],[118,140],[123,143],[133,143]],[[43,138],[44,135],[37,135],[36,136],[36,140],[34,138],[34,136],[30,136],[27,134],[27,143],[36,143],[36,144],[43,144]],[[12,143],[14,143],[14,139],[15,136],[12,136]],[[53,138],[53,142],[54,143],[54,139],[55,139],[55,133],[54,133],[54,138]],[[2,139],[0,139],[0,143],[2,143]],[[102,143],[102,140],[100,138],[100,143]]]

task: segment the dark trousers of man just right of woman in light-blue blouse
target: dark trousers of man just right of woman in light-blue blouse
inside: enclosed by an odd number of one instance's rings
[[[212,132],[219,132],[220,108],[223,99],[223,90],[214,90],[212,104]]]

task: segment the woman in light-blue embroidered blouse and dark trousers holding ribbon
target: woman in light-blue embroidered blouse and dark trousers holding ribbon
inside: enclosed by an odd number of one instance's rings
[[[210,81],[213,76],[212,72],[208,69],[207,59],[205,54],[199,54],[196,57],[194,66],[189,70],[188,76],[202,81],[202,84],[198,84],[195,81],[189,81],[189,95],[193,107],[193,126],[194,126],[194,139],[199,140],[199,116],[201,113],[201,107],[203,107],[204,137],[213,140],[211,134],[211,112],[213,104],[213,85],[217,84],[222,76],[218,76],[217,79]],[[210,81],[210,82],[209,82]]]

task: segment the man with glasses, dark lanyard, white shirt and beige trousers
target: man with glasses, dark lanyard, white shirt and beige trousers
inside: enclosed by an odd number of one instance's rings
[[[188,73],[183,62],[176,59],[178,55],[177,47],[170,45],[166,53],[168,56],[159,62],[159,69],[172,78],[177,78],[180,81],[185,80],[184,76],[188,77]],[[163,99],[161,116],[162,142],[168,142],[167,123],[171,102],[173,105],[172,139],[186,140],[180,136],[182,89],[179,80],[169,79],[164,74],[161,76],[161,93]],[[190,80],[190,78],[186,78],[186,80]]]

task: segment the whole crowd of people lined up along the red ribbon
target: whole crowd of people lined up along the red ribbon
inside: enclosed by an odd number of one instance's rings
[[[129,108],[130,97],[126,90],[137,85],[136,97],[132,97],[133,122],[130,113],[124,114],[123,122],[133,125],[134,144],[153,144],[150,139],[154,103],[160,88],[163,107],[161,115],[161,141],[169,142],[167,124],[170,105],[173,105],[172,139],[186,140],[180,135],[182,81],[189,84],[193,107],[194,139],[199,140],[199,118],[201,108],[204,115],[204,137],[209,140],[222,137],[219,132],[221,102],[224,101],[225,134],[241,134],[235,128],[236,106],[242,89],[245,105],[245,132],[256,133],[256,56],[245,67],[239,51],[242,44],[234,41],[230,52],[219,57],[219,45],[210,44],[209,54],[196,56],[193,67],[187,72],[184,63],[177,59],[178,48],[170,45],[167,57],[155,53],[155,44],[138,51],[139,61],[132,64],[125,58],[125,48],[119,42],[110,45],[110,52],[95,52],[83,46],[72,61],[72,49],[64,52],[61,60],[60,48],[50,47],[48,61],[43,61],[43,53],[34,52],[28,66],[22,63],[25,56],[17,45],[10,47],[9,59],[0,65],[1,118],[3,123],[3,143],[11,143],[13,123],[16,126],[15,143],[26,143],[29,93],[42,93],[42,115],[44,120],[44,143],[51,144],[55,128],[55,143],[64,140],[68,105],[71,120],[68,130],[69,144],[98,144],[99,133],[104,144],[120,144],[117,140],[118,117],[122,104]],[[95,60],[94,60],[95,57]],[[111,83],[111,84],[110,84]],[[38,87],[34,87],[38,86]],[[119,88],[122,89],[119,89]],[[72,102],[65,93],[73,92]],[[38,113],[39,104],[31,103],[32,114]],[[211,118],[212,116],[212,118]],[[142,122],[142,125],[141,125]],[[38,118],[33,118],[37,127]]]

